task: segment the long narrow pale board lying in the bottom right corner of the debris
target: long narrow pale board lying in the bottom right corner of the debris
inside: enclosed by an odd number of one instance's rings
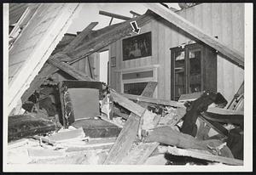
[[[189,156],[207,161],[217,161],[232,166],[243,166],[243,161],[241,160],[218,155],[212,155],[210,153],[207,154],[206,152],[201,152],[198,150],[184,150],[172,146],[168,146],[166,147],[166,149],[163,150],[165,150],[164,152],[168,152],[172,155]]]

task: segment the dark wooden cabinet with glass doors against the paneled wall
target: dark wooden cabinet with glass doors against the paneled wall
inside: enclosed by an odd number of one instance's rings
[[[217,55],[212,48],[189,44],[171,48],[171,99],[181,94],[217,90]]]

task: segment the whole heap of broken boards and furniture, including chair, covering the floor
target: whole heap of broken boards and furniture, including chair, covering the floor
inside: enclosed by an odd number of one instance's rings
[[[9,116],[9,164],[243,165],[243,112],[220,108],[220,93],[177,102],[153,99],[157,82],[137,96],[102,82],[48,81],[24,115]]]

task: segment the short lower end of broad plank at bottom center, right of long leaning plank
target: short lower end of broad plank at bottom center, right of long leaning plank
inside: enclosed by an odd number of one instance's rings
[[[129,151],[129,154],[119,163],[121,165],[142,165],[148,156],[159,146],[159,143],[140,143]]]

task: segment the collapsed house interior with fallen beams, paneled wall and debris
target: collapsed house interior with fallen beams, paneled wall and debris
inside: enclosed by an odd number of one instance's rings
[[[243,3],[67,33],[79,6],[9,6],[9,164],[243,165]]]

